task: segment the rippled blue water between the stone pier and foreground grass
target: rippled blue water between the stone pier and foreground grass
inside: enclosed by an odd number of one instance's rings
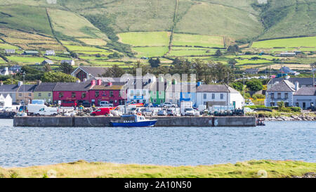
[[[0,120],[0,167],[76,160],[211,165],[244,160],[316,162],[316,122],[266,127],[39,128]]]

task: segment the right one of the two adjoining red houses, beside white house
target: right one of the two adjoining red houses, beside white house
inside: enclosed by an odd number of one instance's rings
[[[95,103],[96,106],[100,105],[100,101],[108,101],[113,103],[114,106],[123,105],[125,102],[124,82],[102,82],[100,79],[96,81],[96,85],[91,87],[89,91],[89,98],[91,103]]]

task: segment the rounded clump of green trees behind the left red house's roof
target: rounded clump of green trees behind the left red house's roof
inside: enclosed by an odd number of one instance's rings
[[[41,77],[42,82],[76,82],[77,78],[63,72],[45,72]]]

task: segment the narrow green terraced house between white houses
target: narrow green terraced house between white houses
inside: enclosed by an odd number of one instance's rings
[[[154,82],[150,87],[150,103],[160,105],[165,101],[166,82]]]

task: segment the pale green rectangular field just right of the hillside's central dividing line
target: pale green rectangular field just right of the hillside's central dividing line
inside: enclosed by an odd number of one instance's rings
[[[204,46],[224,47],[223,37],[197,35],[197,34],[173,34],[172,44],[175,46]]]

